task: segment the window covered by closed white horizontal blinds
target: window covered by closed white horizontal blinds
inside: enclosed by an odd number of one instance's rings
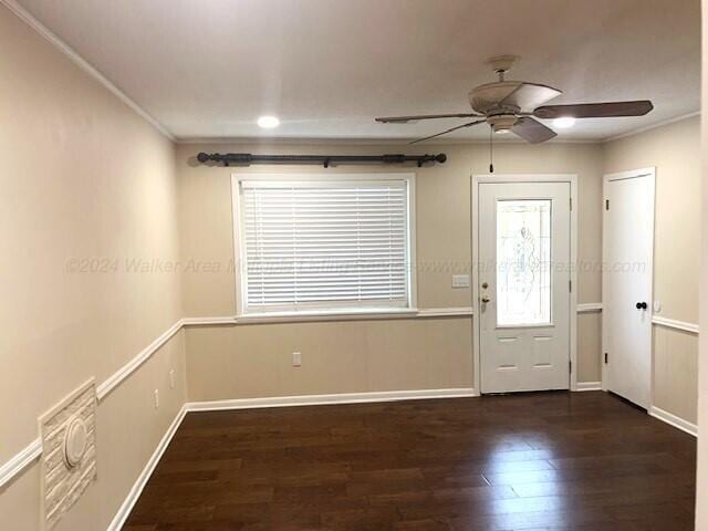
[[[410,176],[233,177],[239,313],[412,304]]]

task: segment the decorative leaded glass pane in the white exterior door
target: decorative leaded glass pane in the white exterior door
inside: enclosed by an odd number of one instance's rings
[[[497,201],[497,324],[551,322],[551,200]]]

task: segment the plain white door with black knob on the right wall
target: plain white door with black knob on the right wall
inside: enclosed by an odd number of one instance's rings
[[[654,170],[605,177],[605,386],[648,409],[652,392]]]

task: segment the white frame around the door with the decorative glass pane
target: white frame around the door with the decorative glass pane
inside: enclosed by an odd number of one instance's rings
[[[479,185],[514,184],[514,183],[568,183],[571,185],[571,292],[570,292],[570,389],[577,391],[577,175],[576,174],[472,174],[471,175],[471,219],[472,236],[472,366],[473,382],[477,393],[481,391],[481,343],[479,317],[481,314],[479,300]]]

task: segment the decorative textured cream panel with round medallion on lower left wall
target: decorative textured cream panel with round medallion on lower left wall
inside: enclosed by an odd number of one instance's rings
[[[96,479],[95,413],[92,378],[40,417],[42,529],[53,529]]]

